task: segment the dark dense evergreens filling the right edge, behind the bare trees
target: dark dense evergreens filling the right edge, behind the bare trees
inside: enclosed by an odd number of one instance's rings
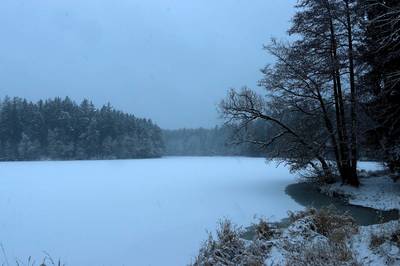
[[[361,2],[368,21],[362,46],[366,102],[376,121],[368,136],[389,168],[400,172],[400,1]]]

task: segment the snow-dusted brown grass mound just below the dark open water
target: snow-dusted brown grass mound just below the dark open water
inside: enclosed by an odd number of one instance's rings
[[[286,265],[357,265],[346,241],[357,232],[354,219],[333,207],[290,213],[284,232]],[[293,240],[294,239],[294,240]],[[283,263],[282,263],[283,264]]]

